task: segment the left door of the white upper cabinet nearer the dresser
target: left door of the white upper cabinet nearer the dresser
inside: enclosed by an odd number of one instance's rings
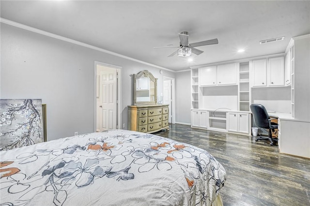
[[[199,68],[199,86],[217,85],[217,66]]]

